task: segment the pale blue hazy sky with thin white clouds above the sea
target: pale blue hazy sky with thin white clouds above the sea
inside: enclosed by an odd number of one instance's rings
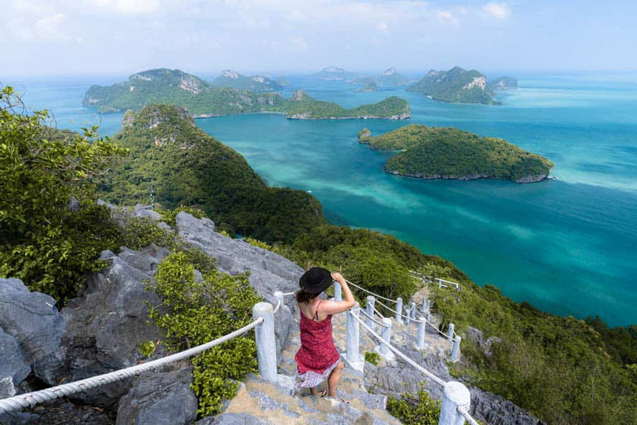
[[[0,0],[0,75],[637,69],[637,1]]]

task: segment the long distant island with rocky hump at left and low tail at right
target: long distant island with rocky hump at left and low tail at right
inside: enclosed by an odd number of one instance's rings
[[[217,117],[240,113],[285,113],[287,118],[345,119],[384,118],[399,120],[411,113],[406,100],[392,96],[384,101],[346,109],[332,102],[317,101],[304,91],[289,98],[277,93],[256,92],[215,86],[179,69],[151,69],[132,74],[128,81],[112,86],[91,86],[84,106],[100,113],[139,111],[144,106],[166,103],[183,106],[194,118]]]

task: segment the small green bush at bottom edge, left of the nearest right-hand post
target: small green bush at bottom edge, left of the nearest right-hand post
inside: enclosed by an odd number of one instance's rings
[[[399,399],[389,397],[387,412],[405,425],[437,425],[440,402],[429,397],[421,387],[417,395],[406,393]]]

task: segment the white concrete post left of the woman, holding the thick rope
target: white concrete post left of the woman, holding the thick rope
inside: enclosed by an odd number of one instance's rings
[[[257,302],[252,307],[252,316],[255,319],[263,317],[263,322],[254,328],[259,373],[263,379],[277,383],[277,343],[272,310],[270,302]]]

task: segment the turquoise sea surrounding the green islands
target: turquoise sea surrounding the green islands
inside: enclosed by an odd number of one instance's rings
[[[403,96],[413,115],[298,121],[258,114],[197,124],[243,154],[268,183],[314,193],[333,224],[394,234],[541,310],[636,324],[637,74],[517,77],[520,89],[501,94],[503,106],[437,103],[403,89],[355,93],[357,86],[343,82],[291,77],[294,88],[344,106]],[[113,134],[122,114],[98,116],[81,99],[91,84],[122,79],[2,81],[24,91],[28,106],[49,108],[60,128],[101,120],[102,132]],[[551,159],[558,180],[518,185],[385,174],[390,154],[360,145],[357,132],[367,127],[378,135],[409,123],[503,137]]]

